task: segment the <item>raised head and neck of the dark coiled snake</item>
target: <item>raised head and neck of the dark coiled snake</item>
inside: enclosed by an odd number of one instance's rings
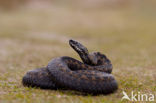
[[[69,45],[79,54],[80,58],[84,63],[89,64],[90,59],[89,59],[89,52],[88,49],[83,46],[81,43],[75,40],[69,40]]]

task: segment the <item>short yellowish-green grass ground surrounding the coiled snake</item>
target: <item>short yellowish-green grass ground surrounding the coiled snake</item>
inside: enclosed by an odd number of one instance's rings
[[[123,90],[156,94],[156,13],[150,6],[27,8],[1,11],[0,17],[0,103],[124,103]],[[23,87],[21,79],[28,70],[58,56],[79,59],[68,45],[70,38],[111,59],[117,92],[83,96]]]

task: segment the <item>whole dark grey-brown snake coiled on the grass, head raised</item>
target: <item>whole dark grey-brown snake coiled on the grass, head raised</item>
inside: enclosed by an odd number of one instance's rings
[[[70,89],[90,94],[109,94],[118,89],[112,72],[111,61],[100,52],[89,53],[87,48],[75,40],[70,46],[83,62],[63,56],[52,59],[47,67],[28,71],[24,86],[43,89]]]

